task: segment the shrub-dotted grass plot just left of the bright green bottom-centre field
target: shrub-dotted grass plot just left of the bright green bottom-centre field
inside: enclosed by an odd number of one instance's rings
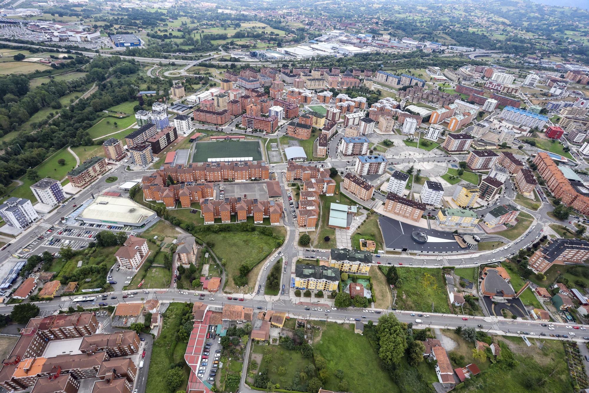
[[[304,358],[300,351],[289,351],[280,345],[264,345],[252,342],[252,353],[263,355],[262,362],[259,363],[257,371],[262,371],[264,368],[268,369],[268,378],[272,379],[274,383],[280,383],[281,378],[284,378],[284,384],[292,384],[295,375],[305,370],[305,367],[312,363],[310,358]],[[270,356],[270,358],[267,358]],[[278,366],[286,368],[286,374],[278,375]],[[250,372],[252,372],[250,363]]]

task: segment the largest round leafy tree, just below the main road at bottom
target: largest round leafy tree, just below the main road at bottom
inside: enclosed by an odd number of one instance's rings
[[[380,346],[378,356],[385,366],[398,363],[405,355],[406,330],[395,315],[386,314],[378,319],[376,337]]]

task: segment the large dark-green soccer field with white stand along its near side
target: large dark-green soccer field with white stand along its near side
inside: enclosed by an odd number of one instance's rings
[[[262,159],[260,142],[257,140],[217,140],[216,142],[195,142],[192,162],[207,162],[209,158],[252,157]]]

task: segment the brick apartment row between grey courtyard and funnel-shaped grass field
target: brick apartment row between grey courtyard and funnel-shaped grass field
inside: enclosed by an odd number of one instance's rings
[[[254,224],[261,224],[264,218],[269,218],[271,225],[279,225],[283,212],[280,202],[241,197],[223,200],[203,199],[200,201],[200,208],[204,224],[214,224],[216,218],[222,223],[231,222],[231,215],[235,215],[237,222],[246,221],[247,217],[251,216]]]

